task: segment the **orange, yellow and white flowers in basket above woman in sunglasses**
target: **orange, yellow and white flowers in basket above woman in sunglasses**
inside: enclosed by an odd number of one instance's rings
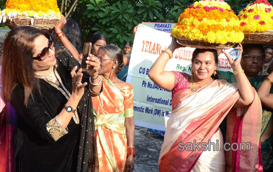
[[[7,17],[12,21],[16,16],[61,17],[61,12],[56,0],[7,0],[6,9],[0,14],[0,23],[5,22]]]

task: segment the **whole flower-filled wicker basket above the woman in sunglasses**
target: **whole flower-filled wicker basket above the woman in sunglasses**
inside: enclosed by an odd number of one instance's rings
[[[61,21],[61,13],[56,0],[9,0],[6,9],[1,11],[0,23],[9,28],[32,26],[42,30],[51,30]]]

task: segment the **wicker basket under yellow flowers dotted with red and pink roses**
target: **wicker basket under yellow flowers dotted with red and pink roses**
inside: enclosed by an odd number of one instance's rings
[[[244,44],[273,45],[273,30],[266,32],[244,32]]]

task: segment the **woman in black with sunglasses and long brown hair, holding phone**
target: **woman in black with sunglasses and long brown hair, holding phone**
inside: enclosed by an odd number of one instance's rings
[[[65,20],[62,16],[56,33]],[[2,95],[17,113],[14,171],[98,171],[96,144],[87,143],[95,142],[91,95],[98,95],[102,84],[99,79],[90,79],[96,86],[87,84],[100,62],[91,57],[89,75],[83,76],[77,67],[56,64],[53,44],[49,32],[29,26],[12,29],[4,42]],[[78,141],[80,129],[90,135]]]

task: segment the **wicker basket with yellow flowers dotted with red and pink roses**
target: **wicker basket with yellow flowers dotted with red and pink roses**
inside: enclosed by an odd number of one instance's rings
[[[239,15],[245,44],[273,44],[273,7],[267,0],[256,0]]]

